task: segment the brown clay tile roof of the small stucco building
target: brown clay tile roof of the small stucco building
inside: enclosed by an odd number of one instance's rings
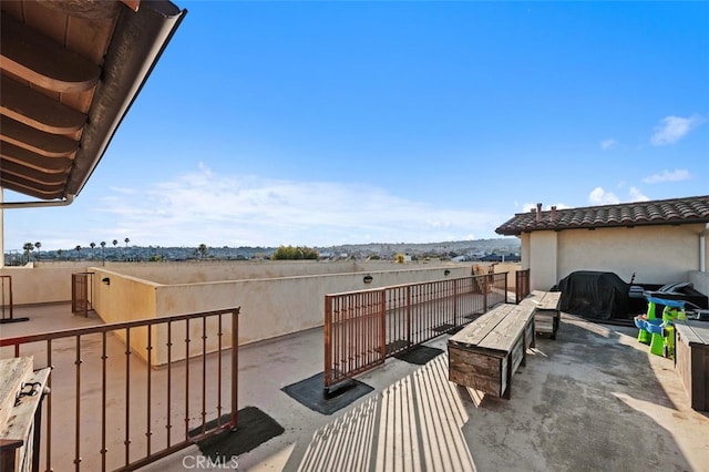
[[[495,229],[504,236],[544,229],[607,228],[614,226],[709,223],[709,195],[517,213]]]

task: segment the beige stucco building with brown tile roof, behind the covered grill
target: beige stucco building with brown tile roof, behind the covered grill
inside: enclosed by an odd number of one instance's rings
[[[517,236],[532,289],[549,289],[576,270],[616,273],[638,284],[697,281],[707,294],[709,195],[542,211],[497,227]]]

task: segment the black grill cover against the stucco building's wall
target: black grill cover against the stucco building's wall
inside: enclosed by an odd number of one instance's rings
[[[629,286],[614,273],[582,270],[559,280],[559,309],[593,319],[627,319]]]

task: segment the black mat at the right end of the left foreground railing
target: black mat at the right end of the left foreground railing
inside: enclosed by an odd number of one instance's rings
[[[222,423],[230,420],[230,414],[222,417]],[[216,427],[217,420],[206,424],[209,430]],[[266,441],[284,433],[284,428],[268,414],[256,407],[246,407],[239,410],[236,431],[226,430],[197,442],[199,451],[212,461],[225,460],[224,458],[238,456],[245,452],[258,448]],[[202,432],[202,428],[189,431],[189,435]]]

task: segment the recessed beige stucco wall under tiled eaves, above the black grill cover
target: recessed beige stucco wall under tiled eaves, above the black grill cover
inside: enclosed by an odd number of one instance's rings
[[[575,270],[616,273],[638,284],[686,281],[699,268],[703,225],[572,229],[558,233],[558,278]],[[536,271],[537,267],[533,267]]]

